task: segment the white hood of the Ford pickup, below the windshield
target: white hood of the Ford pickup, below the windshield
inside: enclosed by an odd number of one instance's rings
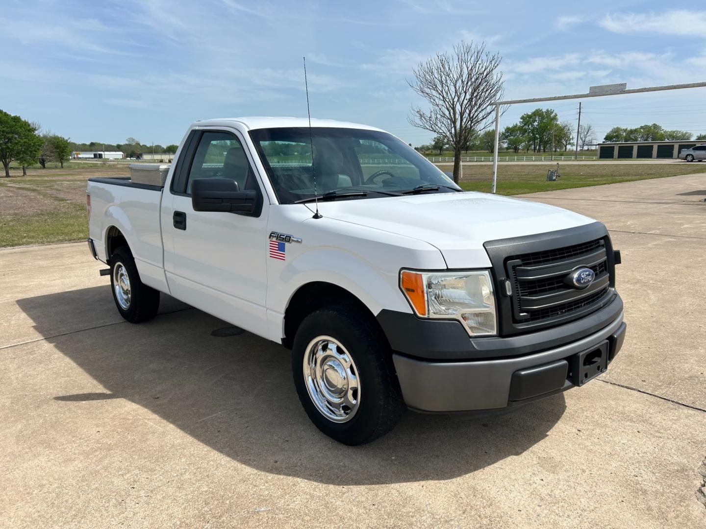
[[[324,217],[426,241],[449,268],[489,267],[486,241],[594,222],[561,207],[474,192],[327,201],[318,208]]]

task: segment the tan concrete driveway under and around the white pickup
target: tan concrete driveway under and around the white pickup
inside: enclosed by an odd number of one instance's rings
[[[526,195],[622,250],[609,372],[355,448],[306,418],[284,348],[169,298],[123,322],[85,243],[2,250],[0,526],[703,528],[704,197],[706,175]]]

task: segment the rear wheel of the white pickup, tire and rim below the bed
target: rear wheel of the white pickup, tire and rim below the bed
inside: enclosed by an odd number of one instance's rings
[[[130,248],[121,246],[110,256],[110,286],[120,315],[128,322],[152,320],[160,308],[160,292],[143,284]]]

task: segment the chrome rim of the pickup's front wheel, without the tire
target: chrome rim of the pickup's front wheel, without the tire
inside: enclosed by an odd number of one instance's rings
[[[328,420],[347,422],[358,411],[358,368],[336,339],[317,336],[306,346],[304,383],[314,406]]]

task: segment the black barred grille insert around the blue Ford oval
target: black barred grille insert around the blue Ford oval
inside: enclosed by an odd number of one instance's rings
[[[511,255],[505,259],[514,285],[513,321],[544,322],[587,310],[609,293],[608,254],[603,238],[539,252]],[[592,284],[577,288],[568,281],[577,268],[590,268]]]

